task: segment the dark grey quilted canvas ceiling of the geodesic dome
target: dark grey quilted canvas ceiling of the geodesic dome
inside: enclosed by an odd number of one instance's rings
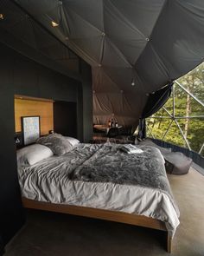
[[[8,13],[0,28],[63,69],[78,72],[77,56],[92,66],[94,123],[114,114],[119,124],[136,127],[150,93],[204,60],[203,0],[0,4]]]

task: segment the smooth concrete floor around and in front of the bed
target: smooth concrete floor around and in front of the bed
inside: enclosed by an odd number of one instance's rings
[[[172,256],[204,255],[204,176],[169,175],[181,212]],[[27,224],[10,242],[5,256],[169,255],[165,233],[148,228],[29,210]]]

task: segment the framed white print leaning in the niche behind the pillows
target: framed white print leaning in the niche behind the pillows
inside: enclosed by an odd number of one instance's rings
[[[22,116],[23,144],[29,145],[35,143],[40,135],[40,116]]]

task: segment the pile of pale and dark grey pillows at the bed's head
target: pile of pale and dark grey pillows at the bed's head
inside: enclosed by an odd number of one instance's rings
[[[80,143],[73,137],[52,134],[39,138],[35,144],[17,150],[18,166],[31,166],[55,155],[66,154]]]

